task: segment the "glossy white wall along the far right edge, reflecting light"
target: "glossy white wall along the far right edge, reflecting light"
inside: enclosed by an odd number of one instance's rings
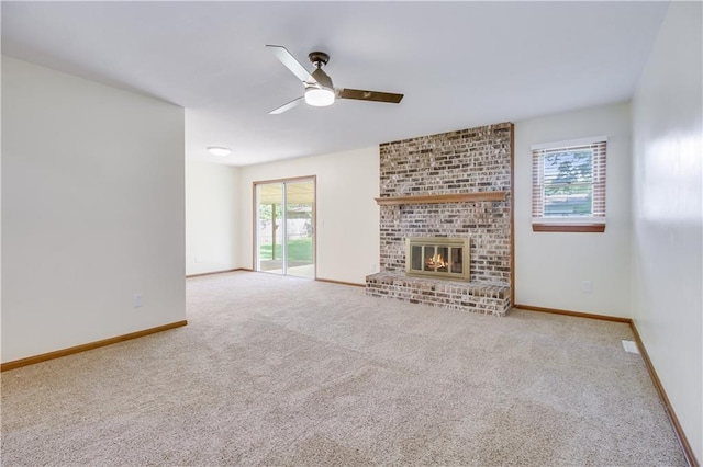
[[[633,318],[699,462],[702,13],[671,3],[633,100]]]

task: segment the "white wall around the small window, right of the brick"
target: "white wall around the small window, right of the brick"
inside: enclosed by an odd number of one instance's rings
[[[532,151],[539,143],[607,136],[603,234],[532,231]],[[626,103],[515,123],[515,303],[629,317],[631,110]],[[592,293],[582,282],[592,283]]]

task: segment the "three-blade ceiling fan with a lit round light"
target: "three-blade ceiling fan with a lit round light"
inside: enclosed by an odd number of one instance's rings
[[[311,52],[308,55],[310,61],[315,66],[315,70],[310,72],[300,65],[300,61],[291,55],[288,49],[281,45],[267,45],[281,64],[298,77],[305,87],[305,93],[278,109],[274,109],[269,114],[280,114],[293,109],[301,102],[316,107],[332,105],[335,99],[356,99],[358,101],[388,102],[398,104],[403,94],[393,94],[390,92],[366,91],[362,89],[337,88],[332,84],[332,78],[322,70],[327,65],[330,56],[324,52]]]

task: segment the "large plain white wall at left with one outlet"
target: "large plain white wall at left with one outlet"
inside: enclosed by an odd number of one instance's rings
[[[185,319],[183,197],[182,109],[2,57],[2,362]]]

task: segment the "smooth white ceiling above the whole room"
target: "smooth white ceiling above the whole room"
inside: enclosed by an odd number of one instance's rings
[[[627,100],[667,7],[3,1],[2,53],[181,105],[188,158],[244,166]],[[266,44],[405,98],[269,115],[303,88]]]

